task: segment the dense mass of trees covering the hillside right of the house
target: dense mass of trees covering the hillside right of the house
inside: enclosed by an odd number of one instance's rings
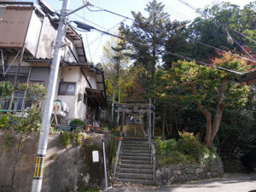
[[[119,73],[121,102],[152,98],[155,133],[162,140],[172,138],[167,145],[176,146],[173,139],[179,137],[178,132],[189,131],[208,148],[218,148],[224,159],[239,160],[255,152],[255,88],[237,83],[238,73],[253,70],[256,63],[255,7],[256,2],[243,8],[215,3],[199,9],[200,16],[191,22],[170,20],[164,4],[155,0],[146,5],[147,16],[132,12],[131,26],[121,25],[119,31],[124,39],[122,53],[130,63]],[[120,52],[105,53],[116,58]],[[208,65],[181,61],[173,54]],[[108,67],[110,73],[107,94],[112,98],[115,92],[118,101],[114,66]],[[186,159],[173,151],[173,157]]]

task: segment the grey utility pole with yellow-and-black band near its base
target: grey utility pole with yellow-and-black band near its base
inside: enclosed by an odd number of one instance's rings
[[[38,142],[38,153],[37,153],[37,159],[36,159],[36,164],[34,169],[34,177],[32,181],[32,192],[40,192],[42,188],[44,160],[45,160],[46,149],[48,144],[50,117],[52,113],[55,89],[57,84],[59,68],[60,68],[61,43],[66,33],[67,15],[71,15],[74,12],[78,11],[79,9],[83,9],[84,7],[88,6],[89,3],[86,3],[86,4],[84,3],[84,5],[79,7],[78,9],[75,9],[67,13],[68,5],[69,5],[69,0],[63,0],[57,38],[55,41],[55,50],[54,50],[54,55],[53,55],[52,64],[50,67],[50,73],[49,73],[49,84],[47,87],[47,94],[44,101],[44,113],[43,113],[43,120],[41,124],[41,131],[40,131],[40,137]]]

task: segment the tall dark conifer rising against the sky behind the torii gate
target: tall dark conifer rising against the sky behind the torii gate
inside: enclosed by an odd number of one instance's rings
[[[131,59],[134,67],[143,68],[140,79],[145,90],[152,88],[157,63],[164,53],[166,39],[173,27],[170,15],[164,11],[165,6],[156,0],[146,5],[148,17],[141,12],[131,12],[134,17],[132,26],[124,26],[125,39],[131,49]],[[179,24],[180,25],[180,24]]]

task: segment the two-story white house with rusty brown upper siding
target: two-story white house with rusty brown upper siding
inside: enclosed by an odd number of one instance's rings
[[[1,81],[14,82],[18,74],[21,83],[47,86],[58,22],[34,3],[0,2]],[[107,105],[104,73],[87,63],[83,39],[69,25],[57,84],[55,100],[69,108],[65,119],[86,119],[86,115],[97,119]],[[18,103],[15,108],[22,111],[24,105]]]

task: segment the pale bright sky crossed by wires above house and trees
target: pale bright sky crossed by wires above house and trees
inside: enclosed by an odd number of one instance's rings
[[[55,10],[61,10],[60,0],[45,0]],[[132,18],[131,11],[142,12],[145,15],[145,7],[148,0],[88,0],[91,4],[102,9],[108,9],[119,15],[125,15]],[[171,15],[171,20],[193,20],[197,16],[194,9],[189,8],[179,0],[159,0],[166,5],[165,11]],[[220,3],[220,0],[183,0],[195,8],[204,8],[207,5]],[[224,2],[228,2],[224,0]],[[229,0],[230,3],[237,4],[241,7],[252,0]],[[83,0],[70,0],[70,9],[76,9],[83,5]],[[125,20],[124,18],[113,15],[104,11],[92,11],[98,10],[96,7],[90,6],[89,9],[81,9],[73,15],[69,16],[69,20],[79,20],[84,23],[94,26],[105,32],[111,32],[117,34],[119,23],[124,22],[126,25],[131,25],[131,20]],[[75,26],[75,25],[74,25]],[[88,61],[98,63],[102,61],[102,47],[110,40],[110,37],[106,34],[102,34],[96,31],[79,32],[83,36],[85,54]]]

